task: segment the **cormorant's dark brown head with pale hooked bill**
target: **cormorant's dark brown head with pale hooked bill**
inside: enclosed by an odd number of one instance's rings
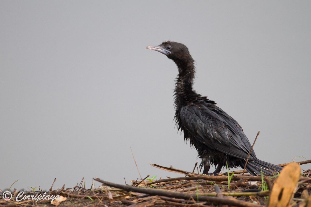
[[[188,47],[182,43],[166,41],[158,46],[147,46],[146,49],[161,52],[175,62],[189,58],[192,59]]]

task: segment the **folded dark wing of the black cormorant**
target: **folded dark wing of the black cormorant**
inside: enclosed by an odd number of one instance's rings
[[[239,124],[214,104],[198,103],[180,110],[182,130],[211,149],[246,159],[251,145]],[[185,137],[188,138],[188,137]],[[256,158],[252,151],[250,158]]]

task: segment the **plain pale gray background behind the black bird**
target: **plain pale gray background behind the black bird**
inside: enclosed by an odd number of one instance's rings
[[[145,49],[169,39],[196,60],[197,92],[251,143],[261,131],[259,159],[311,159],[310,11],[310,1],[0,1],[0,189],[129,184],[130,146],[142,177],[180,176],[148,162],[191,171],[200,160],[173,121],[177,68]]]

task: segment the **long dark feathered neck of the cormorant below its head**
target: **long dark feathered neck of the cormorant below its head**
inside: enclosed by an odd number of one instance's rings
[[[189,101],[191,96],[196,94],[193,90],[193,81],[195,77],[195,67],[192,57],[186,60],[174,61],[178,67],[178,76],[175,83],[176,99]]]

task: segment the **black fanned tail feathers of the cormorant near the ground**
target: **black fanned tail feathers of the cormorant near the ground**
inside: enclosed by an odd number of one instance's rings
[[[241,166],[244,167],[244,164]],[[245,168],[249,173],[252,175],[261,175],[261,172],[263,175],[269,175],[271,173],[277,173],[282,170],[281,166],[271,164],[262,160],[248,160]]]

